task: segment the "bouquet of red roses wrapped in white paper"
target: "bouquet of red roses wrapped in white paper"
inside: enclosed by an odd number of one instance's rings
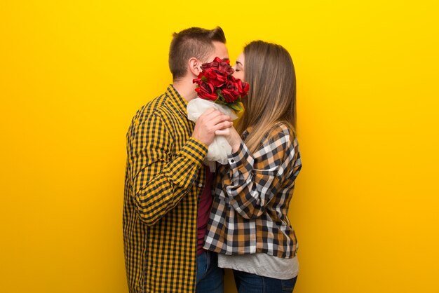
[[[210,63],[201,65],[201,73],[194,79],[196,93],[199,98],[189,101],[187,104],[187,116],[189,120],[196,122],[198,117],[207,109],[214,108],[229,115],[232,119],[238,118],[237,113],[242,113],[243,104],[241,97],[247,95],[248,83],[235,79],[234,69],[229,60],[221,60],[215,57]],[[210,170],[215,170],[215,161],[227,164],[227,155],[231,154],[231,147],[227,139],[215,137],[208,148],[206,160]],[[212,163],[209,163],[212,162]]]

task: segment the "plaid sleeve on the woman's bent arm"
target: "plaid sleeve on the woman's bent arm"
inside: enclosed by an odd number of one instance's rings
[[[271,130],[254,154],[241,141],[229,156],[230,170],[223,178],[234,210],[246,219],[260,217],[278,193],[286,172],[292,170],[295,158],[290,130],[283,124]]]

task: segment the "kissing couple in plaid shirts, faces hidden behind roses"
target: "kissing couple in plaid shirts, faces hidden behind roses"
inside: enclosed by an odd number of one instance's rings
[[[129,292],[223,292],[231,268],[238,292],[292,292],[297,240],[288,219],[302,165],[295,135],[295,70],[288,51],[253,41],[234,66],[250,84],[236,130],[213,109],[196,123],[187,103],[201,64],[229,59],[221,28],[174,34],[173,85],[144,105],[127,134],[123,240]],[[203,164],[215,135],[231,145],[227,165]]]

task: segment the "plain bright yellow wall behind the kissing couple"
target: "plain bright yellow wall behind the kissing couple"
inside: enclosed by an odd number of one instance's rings
[[[1,0],[1,292],[127,292],[126,130],[215,25],[295,60],[295,292],[439,292],[438,1],[266,3]]]

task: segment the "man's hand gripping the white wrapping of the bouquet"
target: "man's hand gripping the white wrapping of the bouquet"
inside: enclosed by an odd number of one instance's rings
[[[195,123],[192,137],[209,146],[215,138],[215,131],[231,127],[231,118],[215,109],[206,110]]]

